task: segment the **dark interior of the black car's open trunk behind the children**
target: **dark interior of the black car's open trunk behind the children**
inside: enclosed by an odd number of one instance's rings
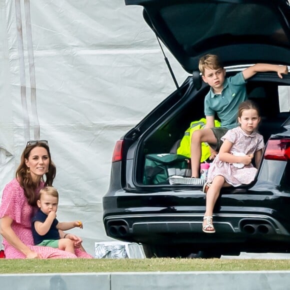
[[[287,76],[279,79],[273,75],[269,77],[269,74],[256,74],[246,83],[248,98],[255,101],[260,109],[261,122],[258,130],[263,135],[265,144],[271,134],[285,131],[282,124],[289,118],[289,112],[280,112],[278,87],[281,89],[281,86],[287,85]],[[209,86],[205,83],[196,90],[192,81],[184,82],[181,87],[182,96],[174,108],[168,110],[166,116],[160,116],[160,122],[157,125],[155,123],[141,138],[137,159],[137,162],[142,162],[141,168],[144,168],[146,154],[176,153],[178,140],[183,137],[190,122],[204,117],[203,100],[208,90]],[[217,117],[215,119],[218,120]],[[136,180],[140,184],[143,182],[143,174],[141,171],[136,172]]]

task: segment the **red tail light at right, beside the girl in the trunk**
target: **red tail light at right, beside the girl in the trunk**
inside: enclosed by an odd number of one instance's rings
[[[290,139],[272,139],[268,140],[265,153],[265,159],[284,160],[290,159]]]

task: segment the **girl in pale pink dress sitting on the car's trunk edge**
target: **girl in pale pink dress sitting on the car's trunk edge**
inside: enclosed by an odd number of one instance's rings
[[[204,232],[215,232],[212,212],[220,188],[252,182],[257,168],[252,165],[251,160],[254,157],[256,167],[261,160],[264,142],[263,136],[256,132],[260,121],[257,106],[250,100],[240,103],[237,120],[240,126],[228,130],[221,137],[223,143],[219,153],[208,169],[207,182],[203,186],[203,192],[206,193],[202,223]]]

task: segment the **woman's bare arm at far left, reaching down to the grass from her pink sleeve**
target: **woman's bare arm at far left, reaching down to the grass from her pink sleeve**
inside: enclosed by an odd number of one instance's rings
[[[41,255],[35,251],[32,251],[26,246],[15,234],[11,227],[13,219],[8,215],[4,215],[0,218],[0,233],[6,239],[6,241],[14,248],[22,252],[26,258],[41,258]]]

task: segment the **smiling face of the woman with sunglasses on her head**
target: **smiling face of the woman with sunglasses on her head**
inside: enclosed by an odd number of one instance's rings
[[[39,176],[48,172],[49,156],[44,147],[34,147],[25,159],[26,166],[30,169],[32,180],[36,181]]]

